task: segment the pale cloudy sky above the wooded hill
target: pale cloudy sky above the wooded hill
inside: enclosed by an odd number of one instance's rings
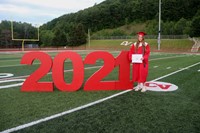
[[[0,22],[11,20],[42,25],[102,1],[105,0],[0,0]]]

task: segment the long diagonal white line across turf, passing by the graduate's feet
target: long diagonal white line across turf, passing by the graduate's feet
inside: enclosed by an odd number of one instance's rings
[[[199,65],[199,64],[200,64],[200,62],[195,63],[195,64],[190,65],[190,66],[188,66],[188,67],[185,67],[185,68],[183,68],[183,69],[181,69],[181,70],[177,70],[177,71],[174,71],[174,72],[169,73],[169,74],[167,74],[167,75],[164,75],[164,76],[162,76],[162,77],[156,78],[156,79],[154,79],[154,80],[152,80],[152,81],[157,81],[157,80],[166,78],[166,77],[168,77],[168,76],[174,75],[174,74],[176,74],[176,73],[178,73],[178,72],[184,71],[184,70],[186,70],[186,69],[189,69],[189,68],[194,67],[194,66]],[[14,131],[18,131],[18,130],[21,130],[21,129],[24,129],[24,128],[27,128],[27,127],[30,127],[30,126],[33,126],[33,125],[36,125],[36,124],[39,124],[39,123],[42,123],[42,122],[46,122],[46,121],[48,121],[48,120],[52,120],[52,119],[58,118],[58,117],[60,117],[60,116],[63,116],[63,115],[69,114],[69,113],[73,113],[73,112],[75,112],[75,111],[78,111],[78,110],[81,110],[81,109],[85,109],[85,108],[90,107],[90,106],[93,106],[93,105],[95,105],[95,104],[104,102],[104,101],[106,101],[106,100],[109,100],[109,99],[111,99],[111,98],[117,97],[117,96],[119,96],[119,95],[125,94],[125,93],[130,92],[130,91],[132,91],[132,89],[130,89],[130,90],[125,90],[125,91],[122,91],[122,92],[120,92],[120,93],[116,93],[116,94],[114,94],[114,95],[111,95],[111,96],[109,96],[109,97],[106,97],[106,98],[97,100],[97,101],[95,101],[95,102],[91,102],[91,103],[89,103],[89,104],[85,104],[85,105],[83,105],[83,106],[80,106],[80,107],[77,107],[77,108],[74,108],[74,109],[71,109],[71,110],[67,110],[67,111],[64,111],[64,112],[61,112],[61,113],[58,113],[58,114],[55,114],[55,115],[52,115],[52,116],[49,116],[49,117],[46,117],[46,118],[43,118],[43,119],[39,119],[39,120],[30,122],[30,123],[27,123],[27,124],[24,124],[24,125],[20,125],[20,126],[14,127],[14,128],[10,128],[10,129],[4,130],[4,131],[2,131],[1,133],[14,132]]]

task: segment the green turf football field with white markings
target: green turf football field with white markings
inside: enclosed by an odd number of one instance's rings
[[[92,51],[75,51],[84,59]],[[115,57],[120,51],[108,51]],[[48,52],[55,57],[58,52]],[[40,65],[20,65],[23,53],[0,53],[0,87],[21,83]],[[0,89],[0,132],[199,132],[200,55],[151,53],[148,81],[178,86],[172,92],[135,91],[21,92],[21,86]],[[85,65],[85,81],[103,65]],[[72,63],[64,65],[72,80]],[[68,70],[68,71],[67,71]],[[104,80],[117,80],[114,69]],[[51,72],[41,81],[52,81]]]

